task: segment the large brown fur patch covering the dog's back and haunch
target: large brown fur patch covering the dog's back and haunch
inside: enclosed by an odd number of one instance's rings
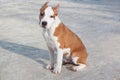
[[[60,23],[54,32],[58,37],[60,48],[70,48],[71,57],[79,57],[77,63],[86,63],[87,52],[80,38],[68,29],[63,23]]]

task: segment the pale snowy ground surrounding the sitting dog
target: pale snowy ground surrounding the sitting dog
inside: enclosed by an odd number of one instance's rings
[[[120,0],[51,0],[81,37],[88,68],[59,75],[46,70],[48,51],[38,25],[45,0],[0,0],[0,80],[120,80]]]

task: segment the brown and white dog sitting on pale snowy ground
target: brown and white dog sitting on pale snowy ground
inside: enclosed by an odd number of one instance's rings
[[[59,4],[49,7],[46,2],[40,9],[39,24],[50,52],[50,65],[55,74],[61,72],[62,62],[72,62],[74,71],[86,67],[87,52],[80,38],[68,29],[58,17]],[[54,56],[54,54],[57,56]],[[56,58],[55,58],[56,57]]]

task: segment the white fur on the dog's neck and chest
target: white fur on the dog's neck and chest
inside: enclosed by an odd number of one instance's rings
[[[43,36],[46,40],[46,43],[49,47],[52,47],[53,49],[59,48],[60,44],[58,43],[57,36],[54,36],[55,29],[59,26],[61,23],[60,19],[58,17],[55,18],[54,23],[49,29],[43,30]]]

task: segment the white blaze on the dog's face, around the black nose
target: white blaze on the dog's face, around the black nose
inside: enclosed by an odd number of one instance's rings
[[[45,22],[47,22],[47,25],[45,26],[45,28],[49,29],[55,21],[55,19],[53,17],[51,17],[51,16],[54,16],[54,12],[53,12],[52,7],[47,7],[44,12],[45,12],[45,14],[41,20],[40,25],[42,26],[42,22],[45,21]]]

